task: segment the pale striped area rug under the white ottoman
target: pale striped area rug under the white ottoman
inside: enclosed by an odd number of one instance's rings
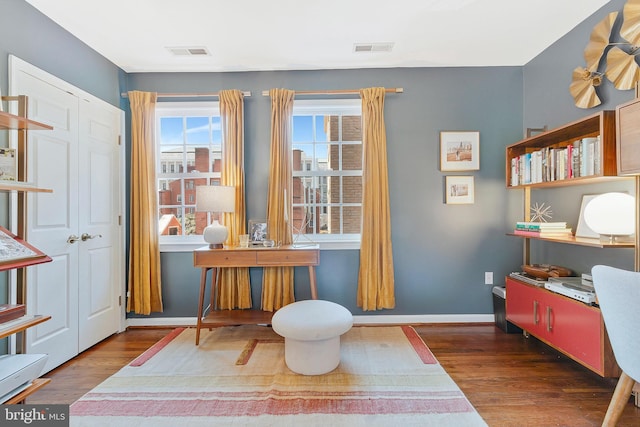
[[[353,327],[333,372],[284,363],[271,328],[176,329],[75,402],[71,426],[486,426],[408,326]]]

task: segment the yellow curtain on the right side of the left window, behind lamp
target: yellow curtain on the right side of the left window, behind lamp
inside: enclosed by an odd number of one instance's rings
[[[223,224],[229,230],[225,244],[235,246],[246,233],[244,199],[244,97],[239,90],[220,91],[222,124],[221,184],[236,190],[235,212],[225,213]],[[218,281],[217,306],[220,309],[251,308],[248,268],[223,268]]]

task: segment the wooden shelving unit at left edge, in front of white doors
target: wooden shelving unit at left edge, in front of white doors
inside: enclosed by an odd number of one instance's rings
[[[16,235],[19,239],[26,240],[26,220],[28,192],[51,193],[51,189],[38,188],[26,182],[27,178],[27,136],[32,130],[52,130],[53,127],[28,118],[28,98],[25,95],[3,96],[2,101],[16,102],[17,114],[0,111],[0,130],[17,132],[17,181],[0,181],[0,191],[17,192],[17,227]],[[5,263],[0,270],[16,269],[17,295],[16,302],[26,305],[26,267],[34,264],[51,261],[46,255],[33,260],[17,260],[14,263]],[[16,352],[24,353],[26,350],[25,334],[27,329],[46,322],[51,316],[48,315],[26,315],[8,322],[0,323],[0,338],[16,335]],[[38,378],[30,386],[22,390],[19,394],[9,398],[1,404],[14,404],[24,401],[29,395],[44,387],[51,380],[48,378]]]

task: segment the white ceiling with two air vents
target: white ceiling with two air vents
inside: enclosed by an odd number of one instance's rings
[[[608,3],[26,1],[127,72],[521,66]],[[393,43],[393,50],[354,52],[356,43]],[[174,56],[167,47],[210,54]]]

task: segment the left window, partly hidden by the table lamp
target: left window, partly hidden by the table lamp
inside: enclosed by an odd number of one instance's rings
[[[218,103],[158,103],[156,139],[160,241],[200,239],[211,218],[195,211],[195,187],[220,183]]]

